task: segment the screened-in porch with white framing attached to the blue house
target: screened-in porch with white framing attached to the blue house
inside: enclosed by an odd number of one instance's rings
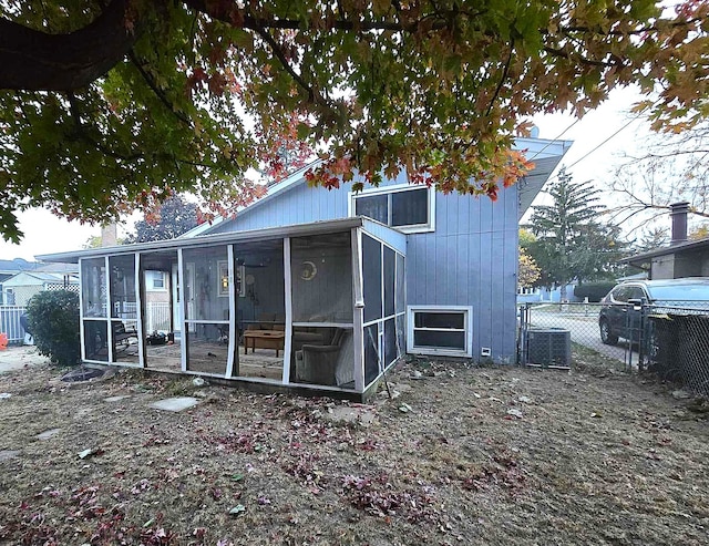
[[[80,266],[85,363],[363,399],[405,352],[405,235],[368,218],[40,258]]]

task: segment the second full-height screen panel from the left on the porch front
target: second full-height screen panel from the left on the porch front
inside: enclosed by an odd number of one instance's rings
[[[111,328],[116,362],[138,362],[135,255],[109,258]]]

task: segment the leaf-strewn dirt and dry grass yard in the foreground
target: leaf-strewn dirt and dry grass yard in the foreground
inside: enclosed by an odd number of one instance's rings
[[[598,359],[409,362],[370,405],[8,372],[0,544],[708,544],[706,404]]]

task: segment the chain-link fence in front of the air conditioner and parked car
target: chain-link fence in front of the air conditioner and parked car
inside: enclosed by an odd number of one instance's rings
[[[517,361],[651,372],[709,396],[709,301],[524,303]]]

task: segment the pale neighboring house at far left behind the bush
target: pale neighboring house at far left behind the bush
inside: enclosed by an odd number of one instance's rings
[[[6,305],[24,307],[32,296],[47,290],[78,292],[78,267],[73,264],[45,264],[13,275],[2,284]]]

